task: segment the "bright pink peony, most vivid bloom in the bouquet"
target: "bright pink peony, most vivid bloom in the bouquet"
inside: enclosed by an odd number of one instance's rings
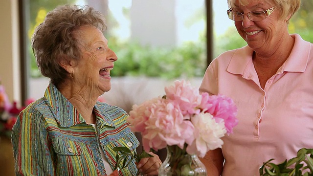
[[[202,101],[199,107],[204,112],[212,114],[218,123],[224,120],[227,134],[232,133],[233,128],[238,124],[237,107],[233,100],[221,94],[209,96],[204,92],[201,95]]]

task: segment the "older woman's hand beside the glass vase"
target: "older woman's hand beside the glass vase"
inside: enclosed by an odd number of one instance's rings
[[[146,157],[142,158],[137,163],[137,169],[144,176],[157,176],[158,175],[158,168],[160,168],[162,162],[158,155],[149,152],[149,154],[153,155],[154,157]]]

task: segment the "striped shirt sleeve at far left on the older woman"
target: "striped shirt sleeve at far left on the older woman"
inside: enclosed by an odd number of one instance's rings
[[[54,166],[41,113],[23,110],[12,129],[16,176],[51,176]]]

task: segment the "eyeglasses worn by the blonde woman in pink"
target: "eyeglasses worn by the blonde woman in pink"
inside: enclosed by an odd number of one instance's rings
[[[246,15],[251,21],[258,22],[265,20],[268,16],[275,10],[276,6],[269,8],[265,11],[252,11],[247,14],[243,14],[240,12],[233,12],[233,8],[227,10],[227,15],[230,20],[235,22],[240,22],[244,20],[244,16]]]

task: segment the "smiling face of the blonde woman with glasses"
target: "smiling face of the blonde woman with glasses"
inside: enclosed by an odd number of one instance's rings
[[[275,6],[266,0],[250,0],[246,6],[241,6],[236,0],[233,11],[247,14],[251,11],[265,11]],[[287,22],[280,19],[276,8],[265,20],[253,22],[246,15],[243,21],[235,22],[236,29],[246,43],[255,51],[267,52],[280,43],[287,30]]]

